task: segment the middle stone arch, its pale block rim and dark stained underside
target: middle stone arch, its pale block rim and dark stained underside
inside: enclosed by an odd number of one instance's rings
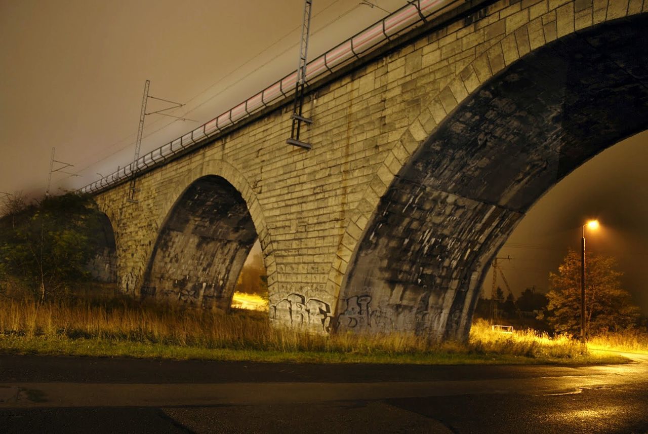
[[[210,160],[194,166],[160,201],[159,230],[141,297],[228,310],[257,238],[269,290],[275,284],[272,242],[259,201],[229,163]]]

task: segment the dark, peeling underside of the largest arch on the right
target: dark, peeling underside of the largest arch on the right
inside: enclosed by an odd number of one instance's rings
[[[648,128],[648,17],[554,41],[477,89],[412,155],[356,248],[338,330],[465,339],[485,269],[577,166]]]

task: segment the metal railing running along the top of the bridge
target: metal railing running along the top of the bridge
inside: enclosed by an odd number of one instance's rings
[[[367,56],[381,45],[393,40],[396,36],[406,31],[419,27],[430,18],[439,16],[450,10],[457,4],[465,3],[465,0],[414,0],[403,6],[393,14],[384,17],[374,25],[355,34],[351,38],[338,44],[333,49],[325,52],[307,65],[306,82],[332,74],[354,60]],[[139,157],[128,166],[119,168],[108,176],[95,181],[86,187],[79,188],[79,192],[96,193],[113,185],[128,181],[134,172],[141,172],[152,166],[164,163],[174,155],[180,154],[198,146],[205,139],[213,137],[237,122],[244,120],[254,113],[275,104],[280,100],[291,97],[295,89],[297,71],[288,74],[266,87],[253,97],[238,104],[222,115],[215,117],[209,122],[189,131],[174,141],[152,150],[146,155]]]

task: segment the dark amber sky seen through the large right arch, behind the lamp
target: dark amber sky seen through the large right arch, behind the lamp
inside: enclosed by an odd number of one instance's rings
[[[596,155],[551,188],[531,207],[498,257],[514,293],[535,285],[546,291],[550,271],[571,247],[581,249],[581,225],[597,218],[597,231],[586,229],[586,248],[612,255],[623,271],[623,284],[648,314],[648,131]],[[498,276],[499,278],[499,276]],[[484,289],[490,297],[492,275]],[[499,278],[498,286],[505,288]]]

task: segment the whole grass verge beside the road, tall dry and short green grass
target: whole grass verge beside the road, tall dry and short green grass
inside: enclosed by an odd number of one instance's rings
[[[467,342],[437,342],[411,334],[304,334],[270,326],[267,313],[218,315],[110,303],[0,305],[0,352],[122,356],[177,360],[295,363],[582,364],[624,363],[583,350],[577,341],[530,331],[501,334],[476,323]]]

